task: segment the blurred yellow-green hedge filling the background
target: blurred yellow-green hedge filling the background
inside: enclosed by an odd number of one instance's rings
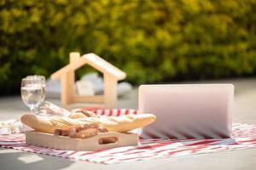
[[[252,76],[255,0],[0,0],[0,90],[93,52],[127,81]]]

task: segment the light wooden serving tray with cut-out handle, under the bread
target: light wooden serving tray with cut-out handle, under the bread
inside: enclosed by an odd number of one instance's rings
[[[100,144],[102,139],[115,137],[114,143]],[[122,146],[137,145],[137,133],[99,133],[88,139],[72,139],[66,136],[56,136],[36,131],[26,132],[26,144],[44,146],[57,150],[103,150]]]

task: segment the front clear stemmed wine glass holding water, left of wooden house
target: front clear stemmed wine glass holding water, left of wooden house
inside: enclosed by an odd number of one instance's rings
[[[38,106],[43,102],[45,90],[40,78],[23,78],[21,81],[21,98],[32,112],[38,114]]]

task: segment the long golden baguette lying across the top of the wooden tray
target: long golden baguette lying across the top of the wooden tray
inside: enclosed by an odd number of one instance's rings
[[[44,116],[23,115],[20,121],[33,129],[44,132],[54,133],[55,128],[67,130],[72,126],[90,124],[92,122],[105,127],[109,132],[125,133],[136,128],[144,127],[155,121],[152,114],[124,115],[124,116],[101,116],[84,117],[71,119],[68,117],[50,116],[49,119]]]

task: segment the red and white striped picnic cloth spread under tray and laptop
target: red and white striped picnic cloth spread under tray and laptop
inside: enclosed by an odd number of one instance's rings
[[[129,113],[137,114],[135,110],[107,110],[106,112],[95,110],[95,112],[100,115],[106,113],[115,116]],[[256,146],[256,126],[234,123],[231,139],[141,139],[138,146],[97,151],[54,150],[27,145],[24,133],[1,135],[0,146],[74,160],[112,164],[252,148]]]

